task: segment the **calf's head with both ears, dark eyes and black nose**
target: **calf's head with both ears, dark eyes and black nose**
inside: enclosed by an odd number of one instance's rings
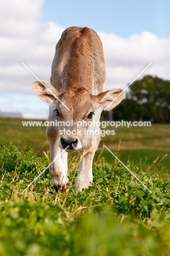
[[[68,147],[67,151],[88,147],[90,136],[84,135],[84,129],[99,129],[88,124],[92,124],[93,120],[99,121],[103,109],[110,103],[107,110],[113,109],[124,97],[121,89],[92,95],[85,88],[76,86],[59,92],[46,81],[34,81],[32,86],[41,100],[50,104],[48,139],[55,140],[59,137],[59,147]]]

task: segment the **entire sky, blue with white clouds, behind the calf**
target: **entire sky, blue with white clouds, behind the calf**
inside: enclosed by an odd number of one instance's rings
[[[169,0],[0,1],[0,111],[47,118],[48,105],[32,89],[50,82],[55,46],[66,27],[98,32],[106,62],[106,89],[124,89],[143,73],[170,80]],[[139,77],[139,79],[142,78]]]

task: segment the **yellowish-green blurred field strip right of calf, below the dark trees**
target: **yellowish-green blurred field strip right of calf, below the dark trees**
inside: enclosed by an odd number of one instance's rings
[[[120,148],[122,149],[150,149],[170,151],[170,125],[151,124],[149,127],[117,127],[108,126],[105,130],[115,130],[114,136],[101,138],[101,143],[112,144],[118,147],[121,139]]]

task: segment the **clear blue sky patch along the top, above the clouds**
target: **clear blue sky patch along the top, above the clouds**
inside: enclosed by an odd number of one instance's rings
[[[125,38],[142,31],[170,37],[169,0],[48,0],[43,12],[43,21],[63,27],[87,26]]]

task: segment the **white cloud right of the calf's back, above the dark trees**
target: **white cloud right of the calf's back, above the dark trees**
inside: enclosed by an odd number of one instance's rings
[[[104,32],[99,35],[104,46],[108,89],[125,88],[150,62],[143,74],[170,79],[170,38],[158,38],[149,32],[133,34],[127,39]]]

